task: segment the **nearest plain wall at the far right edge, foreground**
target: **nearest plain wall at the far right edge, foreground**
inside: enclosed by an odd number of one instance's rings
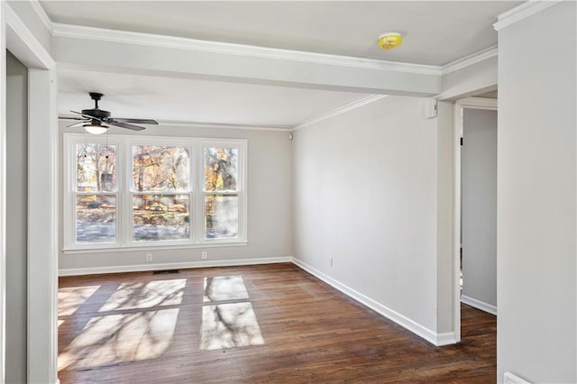
[[[499,381],[577,381],[576,11],[499,30]]]

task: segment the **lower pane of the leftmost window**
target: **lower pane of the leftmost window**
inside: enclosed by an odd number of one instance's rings
[[[116,197],[76,197],[76,242],[115,242]]]

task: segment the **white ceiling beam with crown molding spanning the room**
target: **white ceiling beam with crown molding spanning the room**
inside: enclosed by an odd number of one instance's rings
[[[375,59],[54,24],[59,66],[174,78],[401,96],[434,96],[441,69]]]

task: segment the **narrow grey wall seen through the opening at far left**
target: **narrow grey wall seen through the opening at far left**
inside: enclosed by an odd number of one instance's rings
[[[6,52],[5,380],[27,380],[28,69]]]

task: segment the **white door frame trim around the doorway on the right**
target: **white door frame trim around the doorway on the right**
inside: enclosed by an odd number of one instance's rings
[[[464,109],[497,111],[497,99],[465,97],[454,104],[454,206],[453,206],[453,322],[457,342],[461,341],[461,138],[463,138]]]

